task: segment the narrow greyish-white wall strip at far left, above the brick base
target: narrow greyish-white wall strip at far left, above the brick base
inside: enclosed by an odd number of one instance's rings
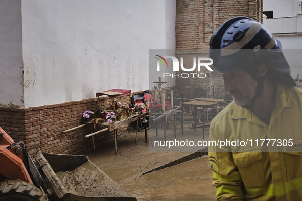
[[[0,105],[24,106],[21,0],[0,1]]]

